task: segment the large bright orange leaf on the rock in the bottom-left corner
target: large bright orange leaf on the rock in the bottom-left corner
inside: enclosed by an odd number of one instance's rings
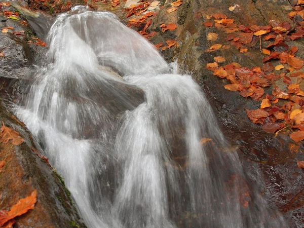
[[[0,226],[7,221],[15,218],[16,216],[26,213],[28,210],[33,209],[37,202],[37,190],[33,191],[30,196],[19,200],[9,212],[0,211]]]

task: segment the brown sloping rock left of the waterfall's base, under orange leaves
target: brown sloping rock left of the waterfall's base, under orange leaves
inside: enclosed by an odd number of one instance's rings
[[[15,218],[18,227],[86,227],[78,215],[62,178],[42,159],[42,152],[26,129],[0,104],[0,121],[16,130],[24,142],[19,146],[0,143],[1,209],[10,209],[18,200],[37,190],[35,207]]]

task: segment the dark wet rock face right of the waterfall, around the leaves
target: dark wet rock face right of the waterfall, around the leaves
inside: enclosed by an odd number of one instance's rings
[[[261,66],[261,56],[251,51],[250,55],[243,55],[237,50],[217,50],[204,52],[212,44],[207,41],[209,32],[219,33],[218,44],[224,43],[226,33],[214,27],[203,26],[203,18],[213,13],[224,13],[228,18],[234,18],[238,24],[245,26],[265,25],[270,20],[290,22],[285,10],[290,8],[287,1],[189,1],[181,36],[179,63],[186,73],[192,73],[202,86],[211,106],[218,118],[227,139],[240,149],[240,156],[251,166],[254,163],[260,168],[264,177],[262,192],[269,203],[279,208],[289,221],[291,227],[302,227],[304,221],[303,172],[297,168],[296,161],[303,160],[300,151],[302,145],[292,150],[294,142],[289,138],[288,132],[279,135],[269,134],[255,125],[247,117],[247,109],[256,109],[259,102],[245,99],[238,93],[224,89],[225,80],[219,79],[206,69],[206,64],[214,62],[213,57],[224,56],[226,64],[238,62],[242,66]],[[230,12],[228,9],[239,4],[240,11]],[[269,10],[271,9],[271,10]],[[199,15],[199,16],[198,16]],[[292,24],[292,23],[291,23]],[[300,42],[292,45],[301,47]],[[290,46],[292,46],[290,45]],[[250,172],[250,171],[249,171]]]

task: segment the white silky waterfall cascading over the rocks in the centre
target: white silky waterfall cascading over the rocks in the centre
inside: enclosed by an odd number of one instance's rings
[[[15,108],[88,227],[285,227],[200,87],[109,12],[59,15]]]

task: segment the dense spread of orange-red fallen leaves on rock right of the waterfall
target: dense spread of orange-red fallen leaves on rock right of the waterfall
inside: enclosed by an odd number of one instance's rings
[[[209,17],[214,24],[211,21],[204,23],[206,27],[215,26],[229,33],[225,40],[230,42],[229,45],[215,44],[206,52],[235,46],[242,53],[247,52],[248,48],[255,48],[265,55],[261,68],[255,66],[249,69],[235,62],[219,66],[219,63],[225,62],[222,56],[214,57],[215,62],[208,63],[207,68],[217,77],[230,81],[224,86],[225,89],[239,91],[245,98],[261,101],[259,109],[246,109],[253,123],[261,124],[263,130],[270,133],[289,126],[293,130],[290,137],[295,141],[304,139],[304,72],[300,71],[304,61],[295,57],[298,48],[289,47],[286,43],[304,36],[304,10],[301,4],[304,5],[304,1],[299,1],[293,7],[294,11],[288,14],[296,22],[294,28],[288,22],[278,21],[270,21],[265,26],[245,27],[220,13]],[[209,33],[207,40],[216,41],[217,34]],[[271,60],[279,60],[280,63],[274,66]],[[276,86],[276,81],[281,79],[286,84],[286,91]],[[263,88],[270,86],[273,86],[272,93],[265,94]]]

